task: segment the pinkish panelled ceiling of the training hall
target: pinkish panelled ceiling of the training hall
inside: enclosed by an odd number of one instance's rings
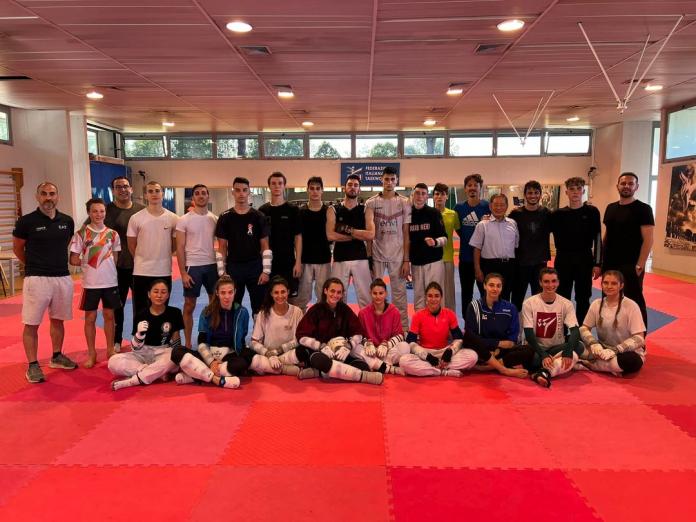
[[[141,5],[139,5],[141,4]],[[582,22],[620,96],[680,15],[628,110],[616,102],[577,23]],[[513,34],[496,24],[526,22]],[[225,24],[254,26],[238,35]],[[504,44],[476,54],[479,44]],[[248,56],[240,45],[265,45]],[[610,0],[0,0],[0,103],[84,110],[126,131],[312,132],[603,126],[657,119],[696,98],[696,1]],[[464,94],[445,94],[449,83]],[[280,100],[273,85],[289,84]],[[104,94],[90,101],[85,93]]]

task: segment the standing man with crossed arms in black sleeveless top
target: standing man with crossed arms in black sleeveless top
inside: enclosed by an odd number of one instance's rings
[[[371,302],[372,283],[365,242],[375,238],[374,214],[371,208],[358,203],[360,176],[348,176],[343,190],[343,201],[330,207],[326,213],[326,237],[335,242],[331,275],[343,283],[346,289],[344,299],[352,276],[360,308],[365,308]]]

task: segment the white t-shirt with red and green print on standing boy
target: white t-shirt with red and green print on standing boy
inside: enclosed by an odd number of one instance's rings
[[[82,257],[82,288],[118,286],[114,252],[120,252],[118,233],[109,227],[95,230],[84,225],[70,242],[70,252]]]

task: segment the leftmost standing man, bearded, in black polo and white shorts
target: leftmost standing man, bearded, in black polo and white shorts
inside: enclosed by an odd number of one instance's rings
[[[68,243],[75,223],[56,209],[58,188],[53,183],[44,181],[36,187],[36,201],[38,208],[20,217],[12,231],[12,250],[24,264],[22,342],[29,362],[26,378],[31,383],[44,380],[37,353],[39,325],[46,309],[53,347],[49,366],[64,370],[77,368],[77,364],[62,353],[63,321],[72,319],[73,283],[68,271]]]

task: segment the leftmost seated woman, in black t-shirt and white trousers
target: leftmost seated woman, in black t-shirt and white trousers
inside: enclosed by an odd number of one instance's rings
[[[109,359],[109,371],[126,379],[111,383],[112,390],[139,384],[152,384],[176,369],[172,348],[181,344],[179,331],[184,327],[181,310],[167,306],[169,288],[163,279],[150,284],[147,297],[150,307],[135,316],[132,351],[117,353]]]

